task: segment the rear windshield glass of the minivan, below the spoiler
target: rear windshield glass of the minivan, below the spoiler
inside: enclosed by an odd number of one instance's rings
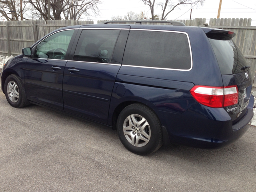
[[[243,66],[248,66],[248,64],[242,52],[232,40],[208,39],[218,60],[222,75],[237,74],[249,70],[249,68],[241,69]]]

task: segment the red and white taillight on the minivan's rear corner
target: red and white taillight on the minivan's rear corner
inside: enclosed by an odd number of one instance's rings
[[[239,96],[236,85],[222,87],[196,85],[192,87],[190,93],[198,103],[213,108],[237,104]]]

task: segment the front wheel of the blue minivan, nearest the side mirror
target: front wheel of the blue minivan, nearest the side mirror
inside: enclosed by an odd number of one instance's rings
[[[8,84],[14,85],[14,88],[10,90],[8,89]],[[16,84],[16,86],[15,86]],[[9,95],[8,95],[9,91]],[[8,103],[15,108],[21,108],[26,106],[25,104],[25,97],[24,97],[24,87],[22,86],[21,80],[14,74],[9,75],[4,83],[4,92],[5,92],[5,97],[8,101]],[[18,98],[16,97],[11,97],[10,94],[14,94],[14,92],[18,92]],[[10,98],[9,98],[10,96]]]

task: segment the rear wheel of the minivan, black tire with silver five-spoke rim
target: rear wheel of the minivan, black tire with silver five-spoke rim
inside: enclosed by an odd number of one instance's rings
[[[135,121],[135,123],[133,122],[133,120],[131,120],[132,117],[136,118],[137,121]],[[144,119],[142,119],[141,117]],[[143,120],[146,121],[144,124],[142,124],[142,126],[138,125],[137,128],[135,126],[132,126],[133,130],[130,131],[130,122],[136,125],[136,122],[142,122]],[[148,124],[145,126],[146,123]],[[140,127],[144,126],[146,127],[145,132],[140,129]],[[163,144],[160,120],[152,109],[143,104],[131,104],[121,111],[117,119],[117,132],[120,141],[125,146],[125,148],[128,149],[130,152],[138,155],[147,155],[153,153],[158,150]],[[127,134],[125,134],[124,132],[126,132]],[[134,144],[134,138],[132,138],[132,136],[139,140],[137,144]],[[147,142],[145,142],[145,140],[140,140],[142,136],[143,138],[149,138],[149,140]]]

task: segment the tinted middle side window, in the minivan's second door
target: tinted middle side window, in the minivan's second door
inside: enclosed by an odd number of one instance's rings
[[[73,60],[110,63],[120,30],[83,30]]]

